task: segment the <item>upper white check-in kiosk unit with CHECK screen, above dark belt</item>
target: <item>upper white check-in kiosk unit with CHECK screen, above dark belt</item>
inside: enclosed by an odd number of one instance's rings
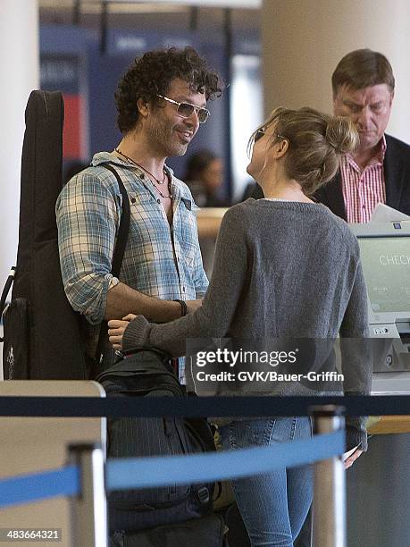
[[[410,393],[410,221],[351,224],[373,339],[373,393]]]

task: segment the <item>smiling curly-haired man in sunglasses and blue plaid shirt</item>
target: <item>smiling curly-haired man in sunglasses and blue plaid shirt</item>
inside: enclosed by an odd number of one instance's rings
[[[218,75],[191,47],[137,58],[115,93],[121,141],[112,152],[96,154],[57,201],[64,288],[87,319],[91,355],[103,319],[134,313],[170,321],[187,312],[186,302],[189,310],[205,295],[196,206],[165,161],[185,154],[210,115],[207,101],[221,93]],[[130,198],[120,279],[111,268],[121,193],[105,164],[120,175]],[[104,367],[112,359],[105,358]]]

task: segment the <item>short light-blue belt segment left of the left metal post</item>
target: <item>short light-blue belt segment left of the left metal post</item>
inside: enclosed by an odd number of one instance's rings
[[[79,467],[69,466],[43,473],[0,480],[0,508],[79,493]]]

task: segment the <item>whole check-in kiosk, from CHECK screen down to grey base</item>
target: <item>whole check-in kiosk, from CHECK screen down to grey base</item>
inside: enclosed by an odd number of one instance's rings
[[[372,394],[410,394],[410,221],[350,226],[367,288]],[[410,545],[410,433],[392,434],[394,424],[409,431],[408,417],[390,417],[390,434],[374,434],[347,472],[349,546]]]

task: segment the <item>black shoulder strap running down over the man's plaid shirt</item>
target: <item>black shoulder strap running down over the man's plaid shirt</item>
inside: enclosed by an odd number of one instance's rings
[[[113,273],[113,277],[118,277],[120,275],[122,259],[124,257],[125,248],[127,246],[128,234],[130,231],[130,198],[128,196],[127,190],[125,189],[124,183],[121,181],[120,175],[113,168],[113,165],[104,164],[103,167],[105,167],[105,169],[108,169],[108,171],[111,171],[111,173],[113,173],[114,177],[117,179],[122,197],[121,220],[120,226],[118,228],[117,241],[115,243],[115,248],[113,252],[113,264],[111,266],[111,273]],[[101,359],[103,358],[106,337],[107,324],[106,321],[103,321],[98,336],[98,343],[96,345],[95,366],[94,370],[91,372],[92,378],[96,376],[97,368],[101,363]]]

